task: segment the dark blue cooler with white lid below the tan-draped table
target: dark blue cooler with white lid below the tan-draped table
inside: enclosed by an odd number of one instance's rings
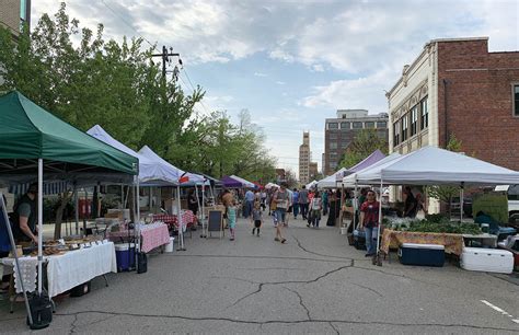
[[[443,266],[445,246],[439,244],[402,243],[400,263],[405,265]]]

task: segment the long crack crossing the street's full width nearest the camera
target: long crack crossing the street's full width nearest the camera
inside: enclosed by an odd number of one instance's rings
[[[471,324],[436,324],[436,323],[397,323],[397,322],[382,322],[382,321],[358,321],[358,320],[325,320],[325,319],[313,319],[313,320],[292,320],[292,321],[280,321],[280,320],[267,320],[267,321],[254,321],[254,320],[239,320],[230,317],[216,317],[216,316],[183,316],[183,315],[170,315],[170,314],[142,314],[142,313],[127,313],[127,312],[108,312],[108,311],[80,311],[73,313],[56,313],[56,316],[76,316],[80,314],[99,313],[115,316],[130,316],[130,317],[150,317],[150,319],[178,319],[184,321],[226,321],[238,324],[252,324],[252,325],[266,325],[266,324],[301,324],[301,323],[338,323],[338,324],[353,324],[353,325],[389,325],[389,326],[402,326],[402,327],[463,327],[482,331],[508,331],[517,332],[517,328],[503,328],[503,327],[489,327],[489,326],[477,326]]]

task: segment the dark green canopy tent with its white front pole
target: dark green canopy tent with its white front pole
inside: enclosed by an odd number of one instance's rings
[[[0,97],[0,184],[35,180],[74,183],[132,183],[138,159],[114,149],[46,112],[20,92]],[[43,195],[38,193],[38,208]],[[43,212],[38,212],[43,231]],[[38,292],[42,293],[42,234],[38,234]]]

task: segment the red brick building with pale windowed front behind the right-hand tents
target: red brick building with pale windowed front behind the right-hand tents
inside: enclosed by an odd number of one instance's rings
[[[488,38],[434,39],[387,94],[390,152],[454,135],[462,150],[519,170],[519,53],[488,53]]]

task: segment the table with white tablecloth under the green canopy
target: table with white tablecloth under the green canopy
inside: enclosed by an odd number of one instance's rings
[[[37,257],[20,257],[20,267],[24,272],[25,289],[34,291],[37,277]],[[47,269],[47,291],[50,298],[107,273],[117,273],[114,243],[93,245],[70,251],[62,255],[45,256]],[[2,264],[13,266],[13,258],[2,258]],[[16,276],[16,275],[15,275]],[[15,284],[16,292],[22,288]]]

